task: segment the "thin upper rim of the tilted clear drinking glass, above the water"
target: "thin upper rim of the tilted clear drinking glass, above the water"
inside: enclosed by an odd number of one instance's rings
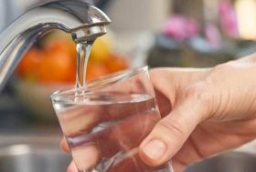
[[[111,86],[116,82],[122,81],[131,76],[137,75],[141,72],[147,72],[148,66],[139,66],[134,68],[125,69],[116,73],[112,73],[106,76],[100,76],[97,79],[91,80],[87,83],[86,87],[82,88],[68,88],[68,89],[60,89],[53,92],[50,95],[51,100],[57,100],[60,96],[65,96],[69,93],[83,91],[85,96],[89,94],[93,94],[95,90],[100,89],[102,87]]]

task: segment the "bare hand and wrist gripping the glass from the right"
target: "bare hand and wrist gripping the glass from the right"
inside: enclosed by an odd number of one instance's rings
[[[161,120],[139,147],[150,167],[176,172],[256,137],[256,55],[204,69],[155,68]],[[69,151],[65,139],[61,147]],[[147,151],[149,150],[149,151]],[[68,172],[76,172],[73,163]]]

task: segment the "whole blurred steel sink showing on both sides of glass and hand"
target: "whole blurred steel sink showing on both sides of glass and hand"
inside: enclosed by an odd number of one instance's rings
[[[64,172],[71,157],[59,149],[59,137],[0,135],[1,172]],[[235,151],[212,157],[185,172],[255,172],[256,141]]]

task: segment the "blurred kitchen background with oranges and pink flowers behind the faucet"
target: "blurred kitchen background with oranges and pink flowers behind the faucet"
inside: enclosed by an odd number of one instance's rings
[[[0,31],[44,0],[0,2]],[[91,0],[112,19],[88,80],[135,66],[209,67],[256,49],[256,0]],[[10,31],[11,32],[11,31]],[[59,132],[49,95],[74,86],[76,51],[52,31],[30,48],[0,96],[0,131]]]

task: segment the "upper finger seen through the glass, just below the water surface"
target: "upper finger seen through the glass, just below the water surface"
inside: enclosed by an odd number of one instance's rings
[[[128,100],[130,95],[116,96],[121,100]],[[65,136],[74,137],[88,133],[100,123],[120,120],[151,108],[155,108],[154,98],[149,101],[123,103],[122,106],[120,104],[71,106],[57,111],[57,114]]]

